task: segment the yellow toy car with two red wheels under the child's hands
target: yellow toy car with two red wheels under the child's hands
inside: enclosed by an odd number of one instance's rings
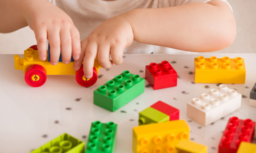
[[[33,87],[45,84],[47,75],[76,75],[76,82],[81,86],[92,86],[97,81],[98,69],[100,69],[97,58],[94,61],[93,76],[87,79],[83,73],[83,66],[78,71],[74,71],[74,62],[69,64],[58,62],[58,64],[52,65],[48,59],[50,58],[49,55],[45,61],[40,60],[37,45],[31,46],[24,51],[23,58],[18,55],[14,56],[15,69],[23,70],[25,82]]]

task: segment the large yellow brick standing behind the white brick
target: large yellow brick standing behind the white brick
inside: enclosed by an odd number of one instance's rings
[[[246,68],[243,58],[195,58],[196,83],[244,84]]]

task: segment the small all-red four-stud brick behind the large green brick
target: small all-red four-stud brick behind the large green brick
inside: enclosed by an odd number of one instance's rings
[[[145,78],[153,90],[177,86],[178,74],[168,61],[151,62],[145,69]]]

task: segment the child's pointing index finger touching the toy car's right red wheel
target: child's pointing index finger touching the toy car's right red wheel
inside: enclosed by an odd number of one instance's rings
[[[94,60],[97,55],[98,46],[96,42],[88,43],[85,49],[85,58],[83,60],[83,72],[85,73],[85,78],[92,78],[92,71],[94,69]]]

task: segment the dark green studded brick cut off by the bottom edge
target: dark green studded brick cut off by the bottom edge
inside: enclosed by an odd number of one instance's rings
[[[86,153],[114,153],[116,148],[116,130],[117,124],[113,122],[92,123]]]

